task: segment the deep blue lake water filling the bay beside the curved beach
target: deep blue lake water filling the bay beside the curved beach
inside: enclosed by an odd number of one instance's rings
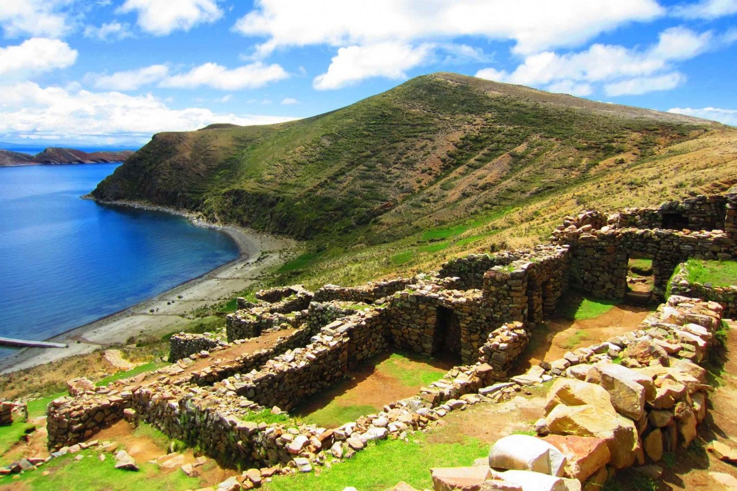
[[[0,336],[48,339],[237,258],[220,230],[80,199],[119,165],[0,167]]]

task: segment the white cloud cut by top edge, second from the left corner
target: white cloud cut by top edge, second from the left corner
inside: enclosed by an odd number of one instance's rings
[[[217,0],[125,0],[117,11],[138,13],[139,27],[156,36],[176,30],[189,31],[223,16]]]

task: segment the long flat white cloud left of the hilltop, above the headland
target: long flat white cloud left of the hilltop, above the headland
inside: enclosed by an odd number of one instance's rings
[[[284,68],[277,65],[265,65],[261,62],[250,63],[238,68],[228,69],[217,63],[205,63],[192,68],[185,74],[172,75],[159,83],[167,88],[211,87],[222,91],[237,91],[244,88],[263,87],[269,82],[276,82],[289,77]]]

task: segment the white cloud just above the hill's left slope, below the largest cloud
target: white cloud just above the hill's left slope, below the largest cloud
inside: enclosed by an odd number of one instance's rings
[[[433,54],[433,45],[411,47],[401,43],[379,43],[338,49],[326,73],[312,86],[318,90],[345,87],[368,77],[406,78],[405,70],[424,63]]]

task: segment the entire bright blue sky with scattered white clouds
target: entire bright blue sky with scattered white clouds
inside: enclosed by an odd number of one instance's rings
[[[737,125],[737,0],[4,0],[0,141],[144,144],[455,71]]]

